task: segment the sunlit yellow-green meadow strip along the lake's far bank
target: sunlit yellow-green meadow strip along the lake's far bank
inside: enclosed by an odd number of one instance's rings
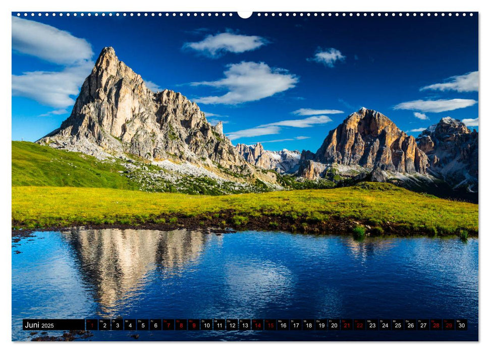
[[[478,205],[417,194],[390,184],[329,190],[195,196],[140,191],[13,187],[13,227],[76,224],[183,224],[348,231],[357,223],[377,233],[478,230]]]

